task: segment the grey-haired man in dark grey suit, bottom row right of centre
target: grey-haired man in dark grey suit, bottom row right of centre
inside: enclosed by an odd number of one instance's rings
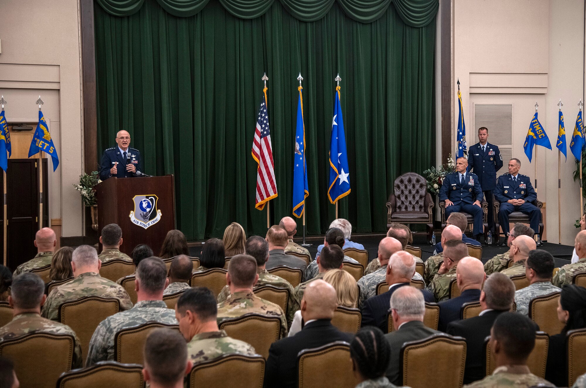
[[[391,357],[386,375],[391,383],[401,386],[403,382],[400,381],[399,358],[403,343],[424,339],[440,332],[423,324],[425,301],[423,294],[416,288],[401,287],[396,290],[391,297],[390,306],[395,331],[384,335],[391,346]]]

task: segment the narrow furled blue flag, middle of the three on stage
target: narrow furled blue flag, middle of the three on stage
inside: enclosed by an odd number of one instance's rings
[[[303,96],[301,86],[297,102],[297,129],[295,130],[295,150],[293,152],[293,215],[303,216],[305,198],[309,195],[307,169],[305,168],[305,125],[303,123]]]

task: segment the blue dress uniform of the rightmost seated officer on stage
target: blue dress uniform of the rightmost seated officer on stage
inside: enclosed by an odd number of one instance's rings
[[[531,203],[537,199],[537,193],[531,185],[529,176],[517,174],[516,181],[510,173],[499,176],[499,181],[496,182],[495,198],[500,202],[499,222],[505,236],[509,233],[509,215],[515,211],[528,215],[531,229],[533,232],[539,233],[541,212],[537,206]],[[507,202],[509,199],[524,199],[525,203],[515,206]]]

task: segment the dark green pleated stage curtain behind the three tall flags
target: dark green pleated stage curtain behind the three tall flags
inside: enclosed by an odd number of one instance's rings
[[[114,3],[99,0],[107,1]],[[261,16],[237,18],[227,2],[241,8],[250,3]],[[132,3],[115,2],[126,9]],[[163,3],[205,6],[193,16],[177,17]],[[309,0],[272,1],[261,12],[264,3],[144,0],[137,12],[124,17],[96,3],[98,152],[113,147],[116,132],[125,129],[131,147],[143,155],[145,172],[175,174],[176,219],[188,239],[221,237],[234,221],[247,234],[264,236],[267,212],[254,208],[257,164],[251,156],[261,77],[264,72],[269,77],[278,188],[270,207],[272,222],[278,223],[292,214],[301,72],[306,225],[308,234],[323,233],[335,218],[327,198],[328,152],[339,73],[352,185],[339,202],[339,216],[350,220],[354,232],[383,232],[394,179],[435,163],[435,23],[415,28],[403,19],[411,15],[421,22],[417,10],[429,7],[413,4],[431,2],[403,0],[411,6],[402,11],[384,6],[371,23],[350,18],[344,7],[373,5],[373,0],[316,1],[330,6],[315,22],[300,21],[285,6]],[[371,11],[379,8],[373,5]],[[301,220],[298,224],[301,234]]]

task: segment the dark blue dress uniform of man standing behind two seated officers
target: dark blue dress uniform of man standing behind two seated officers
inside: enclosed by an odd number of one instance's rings
[[[499,147],[486,142],[482,151],[480,142],[468,149],[468,171],[478,175],[484,198],[488,202],[488,228],[495,232],[495,217],[493,212],[495,206],[492,199],[492,192],[496,187],[496,172],[503,166],[503,158],[500,156]]]

